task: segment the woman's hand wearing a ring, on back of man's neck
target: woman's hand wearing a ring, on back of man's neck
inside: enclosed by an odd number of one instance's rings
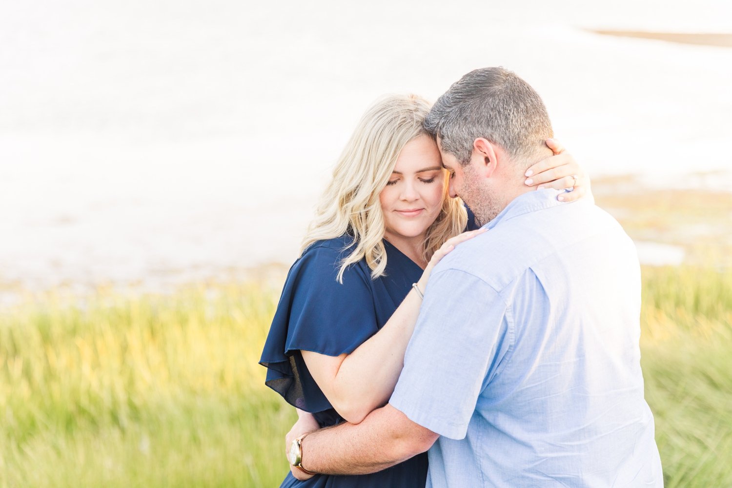
[[[554,152],[553,156],[542,159],[526,170],[525,183],[529,187],[567,189],[572,192],[562,193],[558,200],[571,202],[590,192],[590,179],[578,165],[571,154],[564,152],[556,139],[547,139],[546,144]]]

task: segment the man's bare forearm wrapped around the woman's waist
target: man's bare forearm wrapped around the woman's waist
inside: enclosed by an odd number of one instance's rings
[[[299,434],[291,432],[287,443]],[[340,424],[302,440],[302,467],[312,473],[376,473],[427,451],[439,436],[391,405],[371,412],[360,424]]]

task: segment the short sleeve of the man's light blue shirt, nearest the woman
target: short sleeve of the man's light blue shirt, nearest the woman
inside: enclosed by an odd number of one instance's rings
[[[465,438],[479,394],[512,350],[510,310],[465,271],[430,277],[389,404],[447,438]]]

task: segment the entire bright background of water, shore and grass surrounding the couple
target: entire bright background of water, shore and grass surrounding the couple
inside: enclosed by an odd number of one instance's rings
[[[638,246],[665,486],[732,486],[731,40],[728,0],[5,2],[0,488],[277,486],[257,361],[330,168],[490,65]]]

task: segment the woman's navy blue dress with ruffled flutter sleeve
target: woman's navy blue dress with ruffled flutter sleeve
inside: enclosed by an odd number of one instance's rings
[[[351,265],[337,282],[340,261],[351,252],[353,239],[313,244],[291,267],[277,305],[260,364],[267,367],[266,385],[291,405],[313,413],[321,427],[343,421],[318,388],[300,350],[327,356],[352,353],[376,334],[422,276],[422,269],[397,248],[386,246],[386,275],[371,279],[365,260]],[[307,466],[307,460],[305,462]],[[307,481],[291,473],[281,487],[414,487],[427,481],[427,454],[370,475],[316,475]]]

